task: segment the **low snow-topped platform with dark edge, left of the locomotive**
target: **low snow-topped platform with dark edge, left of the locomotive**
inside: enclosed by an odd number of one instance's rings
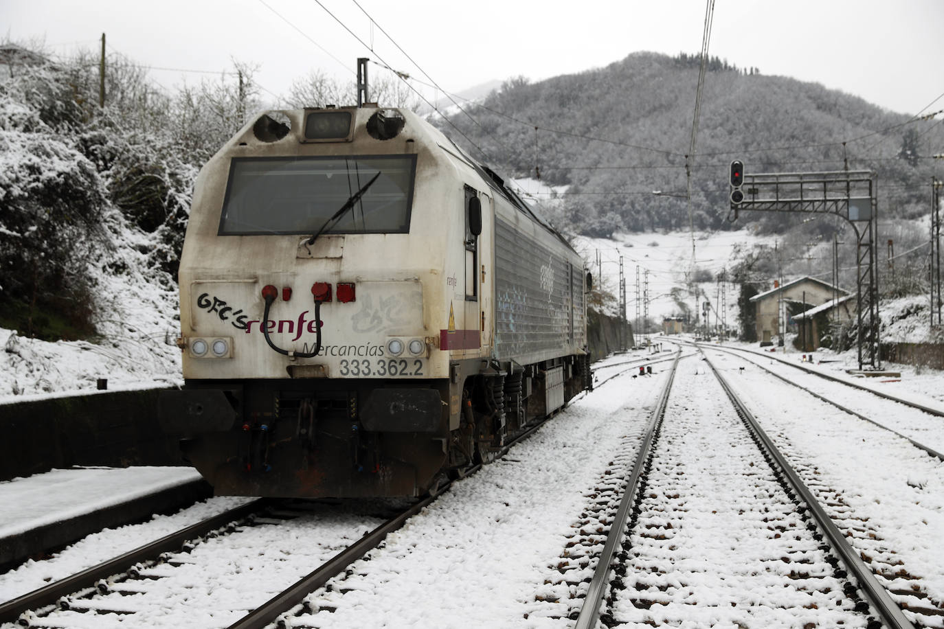
[[[210,485],[184,467],[52,470],[0,482],[0,570],[211,495]]]

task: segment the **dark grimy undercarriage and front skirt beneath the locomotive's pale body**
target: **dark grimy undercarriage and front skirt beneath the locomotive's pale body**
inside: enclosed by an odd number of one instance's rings
[[[522,367],[465,361],[448,380],[188,381],[164,398],[165,429],[218,495],[416,496],[494,460],[508,439],[548,415],[548,373],[560,406],[584,388],[586,361]],[[461,395],[458,422],[450,396]],[[553,412],[560,406],[550,407]],[[166,418],[177,418],[167,421]],[[451,423],[458,427],[449,430]]]

